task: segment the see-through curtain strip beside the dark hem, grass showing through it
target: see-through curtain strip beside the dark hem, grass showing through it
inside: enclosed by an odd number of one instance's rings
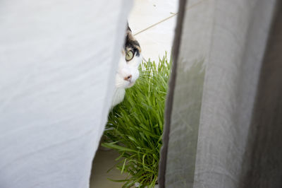
[[[197,25],[192,28],[187,24],[197,21],[211,22],[209,16],[211,11],[207,9],[208,4],[198,4],[192,8],[190,6],[188,1],[185,6],[183,33],[177,61],[176,86],[168,136],[166,187],[192,187],[194,181],[204,64],[207,64],[205,45],[209,41],[211,28],[206,25]],[[193,14],[195,17],[191,17]]]

